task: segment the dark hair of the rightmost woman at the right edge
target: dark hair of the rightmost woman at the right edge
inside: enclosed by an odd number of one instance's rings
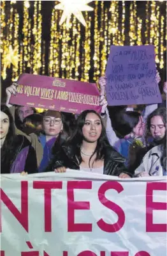
[[[150,115],[147,117],[146,133],[145,133],[145,141],[147,145],[149,145],[148,140],[150,136],[151,118],[153,118],[154,116],[161,116],[161,118],[163,119],[164,126],[166,127],[166,108],[157,108],[152,113],[150,113]]]

